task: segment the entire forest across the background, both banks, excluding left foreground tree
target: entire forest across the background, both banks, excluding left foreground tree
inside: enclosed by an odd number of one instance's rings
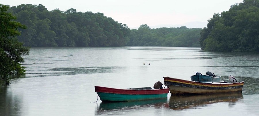
[[[151,29],[142,24],[131,30],[103,13],[82,13],[73,8],[48,11],[41,4],[22,4],[7,12],[26,25],[18,37],[24,46],[177,46],[259,52],[259,0],[243,0],[228,11],[215,13],[203,29]]]

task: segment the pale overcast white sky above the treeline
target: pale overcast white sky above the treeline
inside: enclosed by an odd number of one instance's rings
[[[130,29],[142,24],[151,28],[207,27],[207,20],[214,13],[228,11],[231,5],[243,0],[1,0],[0,4],[18,6],[21,4],[44,5],[47,10],[58,8],[66,11],[74,8],[80,12],[104,13]]]

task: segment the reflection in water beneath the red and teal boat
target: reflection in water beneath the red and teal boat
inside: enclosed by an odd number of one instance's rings
[[[146,107],[154,107],[161,109],[161,107],[167,106],[167,99],[155,99],[144,101],[130,101],[130,102],[102,102],[97,107],[96,115],[111,114],[120,112],[123,110],[129,111],[132,109],[143,109]]]

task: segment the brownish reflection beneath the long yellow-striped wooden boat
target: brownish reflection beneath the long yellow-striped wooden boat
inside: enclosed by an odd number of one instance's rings
[[[172,95],[170,97],[169,107],[173,110],[182,110],[189,108],[199,108],[201,106],[219,102],[228,102],[229,107],[233,107],[240,99],[243,99],[242,92],[193,96]]]

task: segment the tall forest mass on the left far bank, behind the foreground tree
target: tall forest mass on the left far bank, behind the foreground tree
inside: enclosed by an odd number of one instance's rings
[[[27,26],[18,37],[25,46],[124,46],[130,34],[127,25],[103,13],[48,11],[41,4],[22,4],[8,12]]]

